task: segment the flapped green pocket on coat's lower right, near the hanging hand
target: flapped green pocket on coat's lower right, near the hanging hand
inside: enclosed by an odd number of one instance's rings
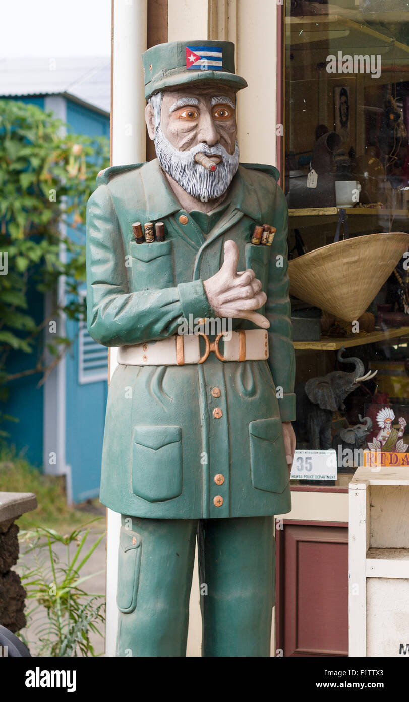
[[[257,419],[248,432],[253,487],[281,494],[290,479],[281,418]]]

